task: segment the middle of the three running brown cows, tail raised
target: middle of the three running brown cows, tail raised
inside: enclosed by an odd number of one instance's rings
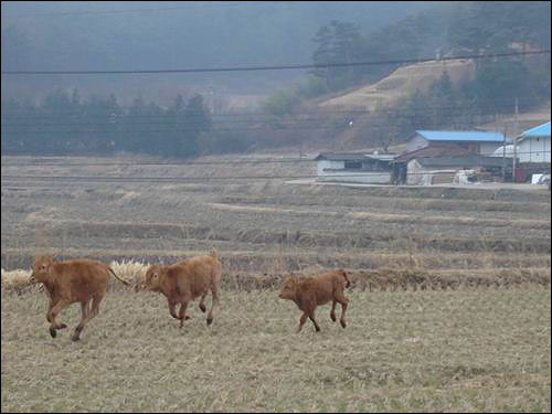
[[[184,262],[170,266],[152,265],[146,272],[146,283],[142,288],[163,294],[169,302],[170,315],[183,321],[189,319],[185,315],[188,304],[201,297],[200,309],[204,312],[205,298],[211,290],[213,302],[206,322],[213,321],[213,308],[219,305],[219,288],[221,284],[222,265],[219,262],[216,250],[211,254],[187,258]],[[180,304],[177,315],[176,307]]]

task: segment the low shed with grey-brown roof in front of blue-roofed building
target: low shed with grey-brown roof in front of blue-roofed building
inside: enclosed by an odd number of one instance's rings
[[[477,155],[455,157],[420,157],[406,164],[406,183],[432,185],[461,182],[466,173],[501,177],[503,160],[497,157]]]

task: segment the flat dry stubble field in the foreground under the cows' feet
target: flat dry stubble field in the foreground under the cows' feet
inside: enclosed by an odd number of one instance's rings
[[[550,412],[549,288],[348,295],[347,329],[322,307],[295,335],[274,290],[226,290],[179,330],[117,289],[79,343],[50,337],[42,296],[2,295],[2,411]]]

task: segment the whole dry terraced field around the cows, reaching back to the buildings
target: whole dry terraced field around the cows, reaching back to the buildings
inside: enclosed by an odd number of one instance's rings
[[[2,157],[2,412],[551,411],[550,192],[293,185],[234,177],[312,163],[211,160]],[[138,284],[213,246],[210,327],[197,302],[180,330],[163,297],[114,282],[81,342],[52,339],[25,283],[42,253]],[[337,266],[354,282],[347,329],[325,306],[322,331],[296,335],[279,284]]]

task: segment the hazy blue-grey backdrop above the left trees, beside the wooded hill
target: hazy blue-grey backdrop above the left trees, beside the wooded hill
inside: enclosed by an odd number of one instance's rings
[[[157,70],[310,63],[316,31],[332,19],[363,33],[431,2],[2,1],[2,70]],[[288,84],[297,71],[210,75],[2,78],[2,96],[33,88],[213,86],[242,94]],[[164,85],[164,86],[163,86]],[[6,88],[6,91],[4,91]]]

